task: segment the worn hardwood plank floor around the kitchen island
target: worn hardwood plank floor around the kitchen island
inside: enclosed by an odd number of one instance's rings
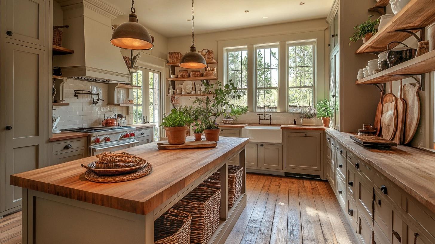
[[[248,201],[226,244],[357,244],[329,183],[247,174]],[[0,244],[21,243],[21,212],[0,219]]]

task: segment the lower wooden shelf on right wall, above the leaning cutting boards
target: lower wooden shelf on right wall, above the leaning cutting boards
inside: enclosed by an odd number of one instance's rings
[[[403,62],[384,71],[370,75],[364,79],[358,80],[355,83],[360,84],[380,84],[389,81],[398,81],[408,78],[400,75],[420,75],[435,70],[435,51],[428,52],[417,58]],[[396,76],[393,76],[396,75]],[[399,76],[397,76],[399,75]]]

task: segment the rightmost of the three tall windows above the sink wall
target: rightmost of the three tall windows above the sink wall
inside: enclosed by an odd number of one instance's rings
[[[315,44],[288,44],[288,112],[313,106]]]

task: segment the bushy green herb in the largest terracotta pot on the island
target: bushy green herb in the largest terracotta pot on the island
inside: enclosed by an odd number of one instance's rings
[[[183,144],[186,142],[187,128],[193,122],[187,108],[173,108],[169,115],[164,114],[161,126],[164,126],[169,144]]]

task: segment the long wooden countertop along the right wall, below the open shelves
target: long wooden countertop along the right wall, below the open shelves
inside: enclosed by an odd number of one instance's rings
[[[435,213],[435,154],[409,146],[363,147],[350,138],[352,133],[326,132]]]

